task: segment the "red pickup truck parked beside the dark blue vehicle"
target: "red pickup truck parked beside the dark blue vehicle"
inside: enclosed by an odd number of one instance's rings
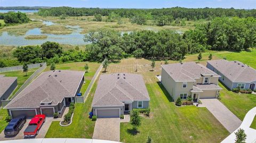
[[[24,136],[25,137],[36,136],[44,122],[45,122],[45,115],[35,115],[29,122],[26,130],[24,131]]]

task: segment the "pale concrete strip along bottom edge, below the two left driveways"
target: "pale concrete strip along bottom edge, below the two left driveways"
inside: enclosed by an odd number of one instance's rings
[[[122,143],[109,140],[98,139],[71,139],[71,138],[47,138],[47,139],[21,139],[21,140],[8,140],[0,141],[0,143]]]

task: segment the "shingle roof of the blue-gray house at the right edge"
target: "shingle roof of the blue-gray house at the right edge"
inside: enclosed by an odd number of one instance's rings
[[[232,82],[250,83],[256,81],[256,70],[239,61],[212,60],[208,61],[220,73]]]

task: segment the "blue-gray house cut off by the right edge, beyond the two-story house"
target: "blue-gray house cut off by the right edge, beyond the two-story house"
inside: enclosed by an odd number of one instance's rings
[[[256,70],[239,61],[212,60],[207,62],[207,68],[221,77],[219,80],[229,89],[256,89]]]

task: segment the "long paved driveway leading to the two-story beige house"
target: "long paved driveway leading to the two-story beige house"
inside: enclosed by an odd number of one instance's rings
[[[200,106],[205,106],[230,133],[241,125],[242,121],[218,99],[200,100],[203,103]]]

